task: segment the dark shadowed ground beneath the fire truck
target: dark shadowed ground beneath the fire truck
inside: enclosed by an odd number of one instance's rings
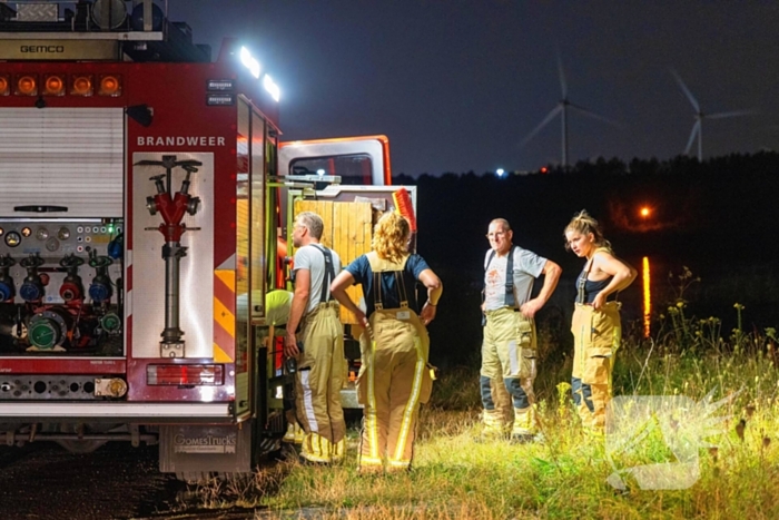
[[[109,443],[73,454],[53,443],[0,447],[0,516],[4,520],[106,520],[191,516],[177,497],[187,485],[157,471],[157,448]],[[178,507],[177,507],[178,506]]]

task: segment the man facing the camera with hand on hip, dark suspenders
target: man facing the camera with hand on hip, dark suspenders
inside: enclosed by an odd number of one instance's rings
[[[536,339],[533,316],[558,286],[554,262],[512,244],[509,222],[490,223],[491,249],[484,258],[484,340],[480,386],[485,438],[525,442],[535,434],[533,381]],[[533,282],[544,276],[539,295]]]

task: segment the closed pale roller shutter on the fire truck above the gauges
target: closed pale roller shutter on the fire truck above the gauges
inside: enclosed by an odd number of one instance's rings
[[[121,217],[124,150],[121,108],[0,108],[0,216]]]

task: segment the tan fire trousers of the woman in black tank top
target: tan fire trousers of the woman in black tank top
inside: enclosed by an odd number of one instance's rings
[[[576,304],[571,322],[573,333],[573,402],[582,425],[603,429],[605,408],[611,401],[611,379],[622,339],[620,304],[608,302],[601,310]]]

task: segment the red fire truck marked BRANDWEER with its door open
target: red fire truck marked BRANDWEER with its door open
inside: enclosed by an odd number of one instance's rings
[[[386,138],[280,144],[278,99],[249,49],[211,61],[152,0],[0,2],[7,444],[159,443],[185,478],[278,447],[279,238],[294,207],[332,203],[347,262],[392,202]]]

